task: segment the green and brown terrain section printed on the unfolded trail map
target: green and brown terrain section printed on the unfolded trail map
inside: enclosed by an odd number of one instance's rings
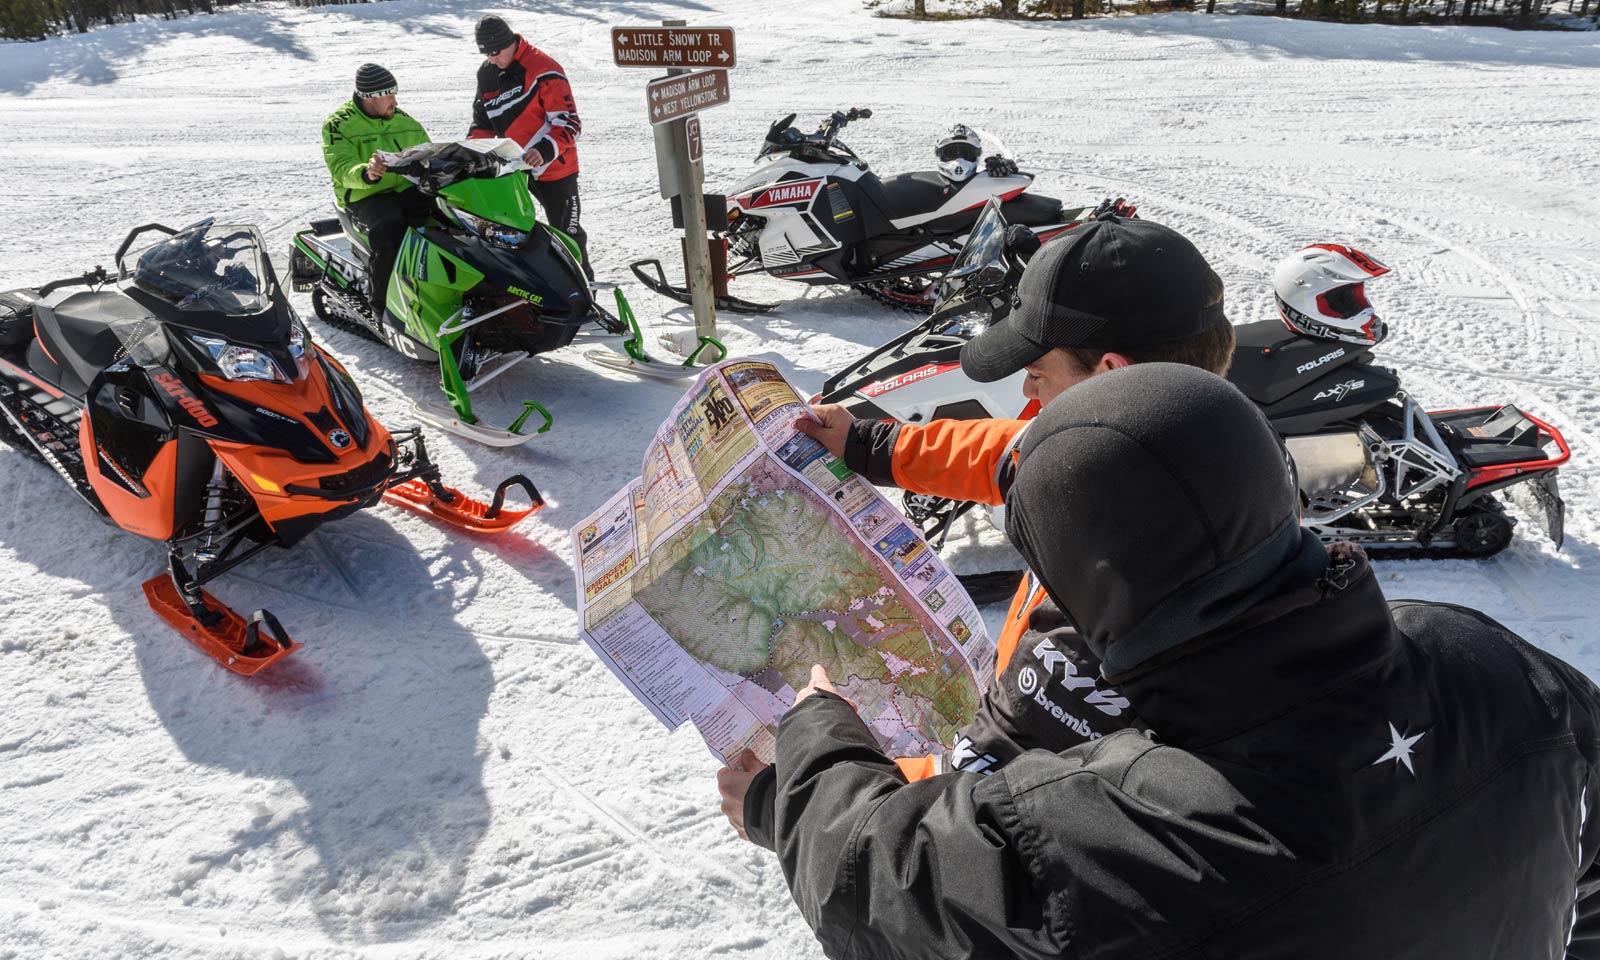
[[[826,664],[894,755],[939,750],[978,709],[962,651],[888,586],[888,562],[768,456],[658,544],[634,579],[634,602],[730,688],[754,683],[787,704],[811,664]]]

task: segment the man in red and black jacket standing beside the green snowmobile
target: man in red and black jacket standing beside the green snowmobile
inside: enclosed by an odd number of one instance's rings
[[[579,222],[578,202],[578,106],[566,72],[550,54],[512,34],[498,16],[485,16],[477,27],[478,50],[486,58],[478,67],[478,93],[472,99],[472,130],[467,136],[504,136],[523,149],[528,189],[544,206],[544,218],[578,243],[584,274],[589,266],[589,235]]]

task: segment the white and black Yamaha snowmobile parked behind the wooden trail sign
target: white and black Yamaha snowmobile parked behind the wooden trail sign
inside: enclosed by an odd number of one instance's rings
[[[760,165],[728,190],[723,229],[726,277],[768,274],[810,285],[845,283],[872,299],[925,314],[938,278],[966,242],[989,200],[1006,221],[1027,224],[1050,238],[1086,210],[1029,194],[1032,173],[1005,155],[982,157],[982,134],[957,125],[939,141],[938,170],[878,178],[838,139],[872,110],[834,112],[816,133],[803,134],[789,114],[766,131]],[[661,261],[632,264],[634,275],[662,296],[690,302],[688,290],[667,282]],[[717,307],[763,312],[717,291]]]

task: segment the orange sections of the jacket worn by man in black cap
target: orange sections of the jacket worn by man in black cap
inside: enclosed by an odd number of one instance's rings
[[[1027,426],[1026,419],[933,421],[904,424],[894,438],[891,470],[894,483],[912,493],[947,496],[1000,506],[1005,502],[1000,477],[1003,458],[1014,456],[1011,445]],[[1045,598],[1034,578],[1022,578],[1006,611],[1000,642],[995,645],[995,675],[1011,662],[1016,645],[1027,632],[1027,614]],[[894,760],[906,779],[917,781],[939,773],[938,757]]]

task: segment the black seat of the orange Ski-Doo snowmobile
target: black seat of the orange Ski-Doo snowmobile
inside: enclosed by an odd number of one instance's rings
[[[29,360],[43,354],[48,363],[35,371],[82,397],[123,349],[114,325],[141,320],[150,320],[150,312],[115,290],[80,291],[54,304],[40,301],[34,307],[38,339],[29,346]]]

